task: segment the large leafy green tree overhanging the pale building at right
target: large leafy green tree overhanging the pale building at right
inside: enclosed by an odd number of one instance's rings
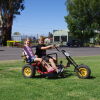
[[[70,33],[83,43],[96,35],[100,29],[100,0],[66,0]]]

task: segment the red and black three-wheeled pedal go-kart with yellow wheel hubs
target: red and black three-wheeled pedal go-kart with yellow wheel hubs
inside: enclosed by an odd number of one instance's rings
[[[91,70],[90,68],[87,66],[87,65],[84,65],[84,64],[80,64],[78,65],[73,59],[72,57],[69,55],[69,53],[65,50],[59,50],[57,47],[55,47],[57,51],[59,51],[60,53],[62,53],[66,60],[67,60],[67,66],[70,64],[70,65],[73,65],[74,66],[74,71],[76,72],[76,75],[81,78],[81,79],[86,79],[86,78],[89,78],[90,77],[90,74],[91,74]],[[56,55],[56,59],[58,61],[58,55],[57,53],[52,53],[52,54],[48,54],[49,56],[50,55]],[[24,59],[27,64],[25,64],[22,68],[22,74],[24,77],[26,78],[32,78],[32,77],[35,77],[36,75],[36,72],[38,72],[39,74],[42,74],[42,75],[47,75],[48,77],[51,75],[53,76],[64,76],[64,73],[61,72],[60,74],[57,74],[56,72],[51,72],[51,73],[48,73],[48,71],[42,66],[42,64],[40,62],[33,62],[33,63],[30,63],[27,61],[27,59],[25,58]],[[62,64],[62,61],[60,61],[60,64],[56,64],[58,68],[66,68],[63,64]]]

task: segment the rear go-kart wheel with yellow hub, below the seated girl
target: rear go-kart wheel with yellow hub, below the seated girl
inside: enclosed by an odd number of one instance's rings
[[[22,74],[24,77],[26,78],[32,78],[35,76],[35,67],[34,66],[31,66],[31,65],[25,65],[23,66],[22,68]]]

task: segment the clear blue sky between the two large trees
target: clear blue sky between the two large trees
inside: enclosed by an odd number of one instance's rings
[[[25,0],[25,9],[13,22],[12,33],[48,35],[53,30],[67,29],[66,0]]]

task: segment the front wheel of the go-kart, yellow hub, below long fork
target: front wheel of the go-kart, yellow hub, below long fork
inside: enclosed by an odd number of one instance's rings
[[[76,69],[75,69],[76,73],[77,73],[77,76],[79,78],[82,78],[82,79],[86,79],[86,78],[89,78],[90,77],[90,74],[91,74],[91,70],[88,66],[86,65],[79,65]]]

